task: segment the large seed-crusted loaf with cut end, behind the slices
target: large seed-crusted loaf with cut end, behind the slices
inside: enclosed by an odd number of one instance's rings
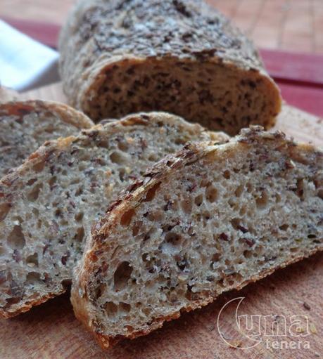
[[[200,0],[77,1],[59,48],[65,94],[94,121],[162,110],[236,134],[281,108],[252,42]]]

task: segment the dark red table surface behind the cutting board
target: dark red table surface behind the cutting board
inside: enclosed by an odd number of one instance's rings
[[[30,37],[56,48],[60,27],[45,22],[14,20],[6,22]],[[323,116],[323,54],[260,51],[268,72],[277,81],[284,100],[290,105]]]

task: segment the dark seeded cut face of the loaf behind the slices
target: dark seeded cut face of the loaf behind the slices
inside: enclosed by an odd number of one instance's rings
[[[236,135],[250,124],[270,129],[281,111],[279,89],[267,74],[216,57],[129,57],[109,63],[89,81],[80,107],[94,121],[160,110]]]

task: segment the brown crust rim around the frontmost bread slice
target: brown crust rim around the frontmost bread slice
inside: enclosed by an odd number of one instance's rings
[[[120,196],[119,200],[111,204],[106,212],[106,215],[103,216],[101,221],[96,223],[96,225],[92,228],[91,237],[89,237],[87,242],[87,251],[84,251],[82,260],[78,263],[77,268],[75,269],[72,283],[71,301],[77,319],[79,319],[83,325],[94,334],[102,348],[109,348],[122,339],[134,339],[136,337],[146,335],[154,329],[162,327],[163,322],[178,318],[182,312],[189,312],[196,308],[206,306],[208,303],[214,301],[218,295],[220,295],[219,293],[210,293],[205,297],[205,299],[197,301],[186,308],[182,308],[181,311],[175,312],[173,315],[157,318],[151,323],[151,326],[148,329],[138,331],[134,329],[134,331],[130,332],[129,335],[109,337],[101,332],[99,323],[96,323],[95,307],[94,303],[92,303],[89,299],[87,286],[89,280],[91,280],[91,273],[96,268],[95,263],[98,259],[97,257],[100,256],[102,252],[108,250],[106,241],[109,237],[109,233],[113,231],[113,228],[118,226],[122,214],[125,214],[125,212],[129,211],[129,209],[137,207],[137,205],[139,205],[144,198],[146,198],[148,190],[154,188],[154,186],[158,183],[163,182],[163,178],[165,178],[167,174],[174,171],[174,169],[184,167],[185,164],[196,162],[198,159],[205,157],[210,152],[218,152],[218,156],[221,156],[223,155],[222,148],[225,148],[225,153],[229,154],[230,150],[234,151],[241,145],[258,143],[260,140],[281,141],[281,145],[286,145],[291,153],[303,151],[307,153],[309,157],[315,155],[322,166],[323,153],[314,146],[310,144],[296,144],[293,141],[286,140],[284,133],[279,131],[275,133],[267,133],[262,130],[263,129],[260,126],[251,126],[250,129],[243,129],[240,136],[232,138],[229,143],[225,143],[224,145],[213,145],[212,143],[189,144],[185,146],[184,150],[177,152],[176,155],[169,155],[165,157],[165,159],[146,171],[146,174],[141,181],[134,183]],[[113,244],[110,245],[112,246]],[[288,261],[284,261],[284,263],[280,263],[278,266],[276,265],[272,268],[262,270],[262,272],[258,273],[258,275],[254,275],[252,278],[242,282],[237,287],[227,287],[223,290],[223,292],[230,289],[241,289],[251,282],[265,278],[267,275],[270,275],[279,268],[289,266],[291,263],[300,261],[322,250],[323,246],[317,246],[317,249],[310,250],[304,255],[296,256],[293,259],[291,258]]]

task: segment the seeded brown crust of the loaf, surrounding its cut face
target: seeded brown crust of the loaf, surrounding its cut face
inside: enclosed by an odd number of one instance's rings
[[[170,72],[179,63],[183,67],[215,65],[231,70],[232,77],[243,74],[247,81],[264,81],[267,97],[272,99],[272,103],[270,115],[265,119],[260,117],[258,122],[268,129],[281,110],[279,90],[265,71],[252,41],[227,18],[200,0],[78,1],[63,27],[59,48],[65,94],[73,106],[84,110],[94,121],[101,117],[99,104],[94,101],[100,88],[106,86],[107,74],[115,67],[126,70],[143,65],[147,69],[150,65],[158,67],[167,61]],[[167,91],[168,88],[165,94]],[[108,97],[104,100],[107,99],[111,101]],[[156,100],[158,103],[158,98]],[[140,107],[138,105],[129,112],[158,109],[191,120],[189,112],[176,112],[167,106]],[[118,109],[119,112],[121,116],[126,115],[121,113],[122,108]],[[112,113],[105,115],[114,116]],[[213,129],[212,121],[208,120],[209,128]]]

